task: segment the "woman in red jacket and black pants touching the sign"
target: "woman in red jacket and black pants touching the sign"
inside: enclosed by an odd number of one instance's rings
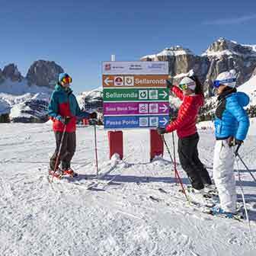
[[[199,136],[196,123],[197,114],[204,102],[203,87],[195,75],[183,78],[178,87],[170,85],[171,91],[182,101],[178,118],[169,123],[166,128],[158,128],[158,133],[172,133],[177,130],[181,166],[186,171],[192,187],[203,190],[205,186],[212,184],[208,171],[198,157],[197,150]]]

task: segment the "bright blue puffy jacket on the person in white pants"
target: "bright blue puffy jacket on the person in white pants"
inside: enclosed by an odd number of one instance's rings
[[[224,94],[218,99],[214,121],[216,139],[233,136],[235,139],[244,140],[250,126],[248,114],[243,108],[250,101],[248,95],[243,92],[233,92]]]

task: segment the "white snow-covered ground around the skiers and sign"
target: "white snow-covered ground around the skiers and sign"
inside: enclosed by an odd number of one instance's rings
[[[104,190],[87,190],[95,174],[92,127],[77,131],[73,167],[80,174],[79,184],[72,179],[50,184],[47,166],[55,146],[50,126],[0,126],[0,255],[256,254],[256,184],[241,164],[253,241],[246,222],[206,215],[185,202],[168,153],[149,162],[149,131],[124,132],[124,159],[104,177],[114,181],[98,184]],[[173,154],[171,134],[165,138]],[[213,132],[200,131],[200,156],[210,172],[213,144]],[[253,174],[255,145],[256,136],[251,136],[241,151]],[[110,170],[107,132],[101,128],[98,158],[100,173]],[[179,163],[178,171],[189,184]]]

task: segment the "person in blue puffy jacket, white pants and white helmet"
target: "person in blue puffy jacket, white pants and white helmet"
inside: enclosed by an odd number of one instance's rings
[[[216,213],[232,216],[237,213],[235,191],[235,149],[241,146],[248,133],[249,119],[244,107],[248,95],[235,88],[234,72],[222,72],[214,81],[217,90],[213,179],[219,192],[220,205],[213,208]]]

